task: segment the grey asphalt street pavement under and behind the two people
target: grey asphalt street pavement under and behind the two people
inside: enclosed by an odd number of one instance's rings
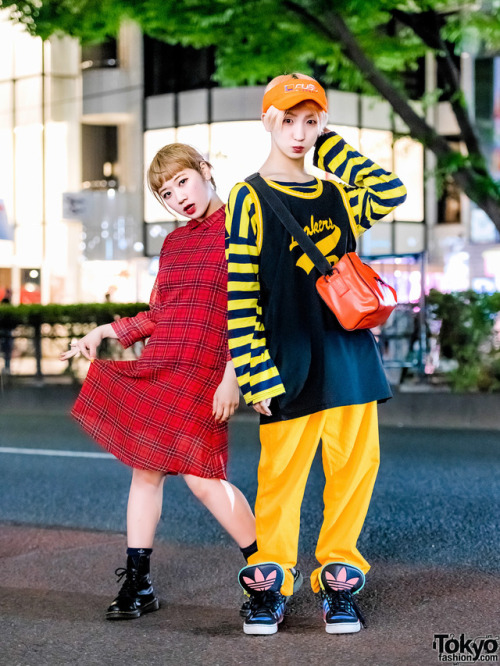
[[[124,565],[130,472],[67,416],[73,399],[71,386],[0,398],[2,666],[427,666],[440,663],[434,634],[498,636],[498,431],[383,427],[359,542],[372,563],[360,594],[368,629],[327,635],[306,583],[276,636],[247,637],[241,555],[179,478],[165,485],[153,553],[160,611],[104,620]],[[230,478],[251,503],[258,454],[256,418],[243,411],[231,424]],[[315,566],[322,485],[318,453],[302,510],[305,574]]]

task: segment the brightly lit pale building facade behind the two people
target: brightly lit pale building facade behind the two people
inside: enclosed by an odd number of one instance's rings
[[[268,148],[259,120],[263,87],[214,86],[211,49],[156,42],[133,24],[116,42],[81,50],[70,39],[42,44],[0,14],[0,56],[0,294],[12,286],[14,302],[147,300],[163,239],[182,220],[147,191],[145,166],[166,143],[190,143],[212,163],[227,198]],[[491,83],[483,76],[492,99],[491,108],[478,109],[483,127],[497,127],[495,67]],[[439,197],[433,179],[424,180],[432,155],[406,136],[389,105],[334,90],[328,96],[329,126],[408,187],[407,202],[359,247],[379,258],[400,299],[418,300],[422,281],[443,290],[500,289],[498,233],[452,185]],[[429,122],[458,141],[449,106],[430,113]],[[488,132],[485,140],[500,145],[500,130]],[[498,146],[490,152],[496,159]]]

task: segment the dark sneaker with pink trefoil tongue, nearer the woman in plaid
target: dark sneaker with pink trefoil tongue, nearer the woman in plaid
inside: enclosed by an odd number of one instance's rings
[[[250,597],[243,623],[245,634],[269,635],[278,631],[287,601],[280,592],[284,580],[285,572],[275,562],[246,566],[240,571],[238,581]]]

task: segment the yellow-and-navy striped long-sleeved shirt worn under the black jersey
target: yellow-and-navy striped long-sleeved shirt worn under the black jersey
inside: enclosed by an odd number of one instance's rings
[[[340,190],[354,238],[370,229],[406,198],[403,183],[358,153],[334,132],[323,135],[316,144],[314,163],[342,182]],[[268,184],[281,193],[310,200],[311,207],[323,195],[326,185],[319,179],[308,183]],[[332,234],[333,236],[333,231]],[[337,239],[338,241],[338,239]],[[337,242],[336,241],[336,242]],[[226,258],[228,261],[229,349],[245,401],[256,403],[285,392],[280,373],[271,358],[266,340],[262,311],[260,255],[264,239],[263,216],[259,198],[248,183],[232,189],[226,209]],[[334,263],[328,237],[318,245]],[[308,258],[302,265],[312,268]]]

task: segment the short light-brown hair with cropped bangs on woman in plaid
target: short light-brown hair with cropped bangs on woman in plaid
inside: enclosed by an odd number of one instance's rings
[[[162,206],[165,202],[159,194],[159,191],[166,180],[174,178],[179,171],[183,169],[194,169],[203,178],[203,166],[206,165],[208,169],[212,169],[212,165],[208,162],[203,155],[185,143],[169,143],[156,153],[149,165],[146,175],[149,190],[154,195],[155,199],[159,201]],[[213,177],[210,182],[215,190],[215,181]]]

